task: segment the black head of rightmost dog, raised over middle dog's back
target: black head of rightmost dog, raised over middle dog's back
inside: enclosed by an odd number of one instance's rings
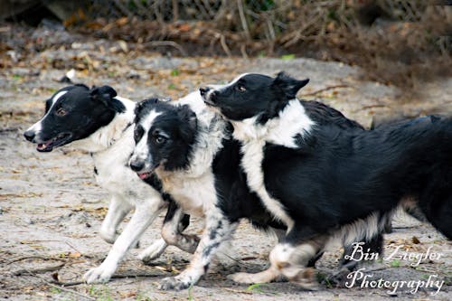
[[[295,99],[297,91],[309,80],[296,80],[279,72],[276,78],[267,75],[242,74],[224,86],[200,89],[202,99],[221,115],[231,120],[259,117],[267,121],[278,115],[287,102]]]

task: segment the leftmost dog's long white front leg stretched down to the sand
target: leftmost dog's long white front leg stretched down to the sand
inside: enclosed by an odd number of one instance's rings
[[[113,276],[118,268],[119,261],[124,258],[127,250],[137,243],[146,228],[155,220],[158,212],[165,206],[159,195],[155,195],[152,201],[144,202],[135,208],[132,219],[118,236],[108,252],[107,258],[98,268],[91,268],[84,275],[83,279],[87,283],[107,282]]]

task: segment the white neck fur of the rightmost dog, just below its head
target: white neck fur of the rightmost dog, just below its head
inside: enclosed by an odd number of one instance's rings
[[[265,124],[257,122],[259,116],[231,120],[233,136],[244,142],[262,141],[297,148],[294,137],[307,135],[315,122],[306,115],[306,110],[298,99],[289,100],[277,117],[270,118]]]

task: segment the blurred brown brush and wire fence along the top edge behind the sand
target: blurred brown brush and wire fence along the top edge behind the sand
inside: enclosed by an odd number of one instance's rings
[[[452,1],[1,0],[0,67],[52,47],[61,32],[173,56],[309,57],[416,88],[450,76]],[[34,33],[36,28],[52,33]],[[9,54],[8,54],[9,53]],[[13,59],[13,62],[8,62]]]

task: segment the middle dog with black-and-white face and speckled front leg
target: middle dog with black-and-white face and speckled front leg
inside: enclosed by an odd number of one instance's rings
[[[318,124],[363,130],[357,123],[321,103],[303,102]],[[231,125],[203,103],[179,101],[174,104],[145,101],[137,106],[137,146],[130,166],[142,178],[156,174],[163,191],[191,215],[204,215],[205,228],[190,267],[177,277],[165,278],[164,289],[183,289],[205,273],[212,254],[235,230],[240,219],[261,229],[276,230],[283,237],[287,225],[276,221],[247,186],[240,167],[240,143],[231,138]],[[369,241],[379,246],[381,237]],[[378,251],[378,250],[376,250]],[[311,265],[318,256],[312,256]],[[278,277],[268,269],[258,275],[238,273],[237,282],[268,282]]]

